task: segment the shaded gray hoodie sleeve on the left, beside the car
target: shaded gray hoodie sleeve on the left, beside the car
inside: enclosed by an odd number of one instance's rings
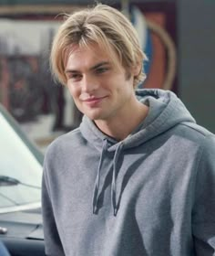
[[[58,230],[56,228],[51,198],[49,197],[46,167],[44,167],[42,181],[42,213],[46,255],[65,256]]]

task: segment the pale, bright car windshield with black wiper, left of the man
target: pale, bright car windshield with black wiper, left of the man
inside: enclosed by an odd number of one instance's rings
[[[41,163],[0,112],[0,211],[40,202],[41,178]]]

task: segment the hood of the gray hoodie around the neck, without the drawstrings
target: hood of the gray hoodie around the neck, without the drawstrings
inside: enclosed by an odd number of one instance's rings
[[[185,105],[172,91],[143,89],[137,90],[136,95],[138,101],[148,105],[148,116],[141,125],[141,129],[136,129],[124,139],[124,148],[143,144],[178,123],[195,123]],[[99,131],[95,123],[89,120],[87,116],[83,118],[80,131],[89,143],[94,144],[97,150],[102,151],[104,139],[113,144],[112,150],[116,150],[118,142]],[[109,148],[109,150],[111,149]]]

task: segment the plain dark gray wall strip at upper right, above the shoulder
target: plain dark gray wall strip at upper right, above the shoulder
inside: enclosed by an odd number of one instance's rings
[[[215,1],[179,0],[177,14],[179,95],[215,133]]]

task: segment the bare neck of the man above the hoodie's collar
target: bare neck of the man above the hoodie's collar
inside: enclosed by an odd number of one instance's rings
[[[108,120],[96,120],[95,123],[103,133],[122,141],[138,127],[139,123],[144,121],[147,114],[148,107],[136,101],[133,107],[129,106],[124,115],[117,115]]]

